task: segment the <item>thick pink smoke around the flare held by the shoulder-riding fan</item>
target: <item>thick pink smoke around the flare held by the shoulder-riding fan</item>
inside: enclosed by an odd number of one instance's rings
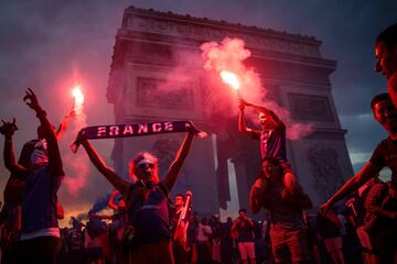
[[[293,122],[288,109],[266,97],[271,91],[261,85],[258,73],[254,68],[246,67],[243,63],[251,55],[250,51],[245,47],[243,40],[225,37],[221,44],[216,42],[204,43],[201,45],[201,50],[204,69],[213,74],[213,89],[210,91],[206,101],[210,106],[214,106],[224,112],[230,112],[229,108],[233,106],[235,110],[232,111],[237,111],[237,95],[232,91],[232,88],[223,85],[218,77],[222,70],[232,72],[238,76],[240,81],[239,96],[248,102],[264,106],[276,112],[288,128],[287,138],[289,140],[298,140],[312,132],[311,124]]]

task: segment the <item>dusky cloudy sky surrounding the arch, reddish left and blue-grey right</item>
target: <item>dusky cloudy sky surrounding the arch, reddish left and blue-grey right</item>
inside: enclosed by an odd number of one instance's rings
[[[331,75],[333,96],[342,127],[348,130],[355,169],[385,136],[368,107],[373,95],[386,90],[385,79],[373,70],[373,50],[377,33],[396,22],[397,1],[1,0],[0,117],[17,118],[17,153],[23,142],[35,138],[36,118],[22,101],[28,87],[36,91],[52,122],[58,123],[72,106],[71,87],[79,81],[86,92],[87,123],[112,123],[112,107],[105,95],[116,31],[129,6],[315,36],[323,42],[322,55],[337,61]],[[64,152],[72,139],[66,134],[61,142]],[[97,144],[107,160],[111,143]],[[3,165],[0,173],[2,189],[9,174]],[[108,184],[93,173],[84,191],[71,196],[63,188],[61,199],[75,213],[107,191]]]

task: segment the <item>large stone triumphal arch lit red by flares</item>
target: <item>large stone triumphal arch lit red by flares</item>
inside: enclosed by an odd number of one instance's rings
[[[218,213],[230,196],[228,160],[236,172],[239,206],[248,208],[249,187],[260,164],[259,145],[238,134],[237,117],[217,118],[207,108],[211,84],[196,59],[201,44],[226,36],[244,40],[253,53],[247,65],[255,67],[264,87],[272,90],[271,97],[290,110],[292,119],[313,125],[310,135],[288,142],[288,158],[319,205],[353,175],[353,168],[346,131],[341,128],[331,94],[329,76],[336,62],[322,57],[321,42],[314,37],[127,8],[116,36],[107,89],[115,123],[192,120],[216,136],[194,142],[173,194],[191,189],[194,210]],[[183,78],[181,73],[196,77]],[[127,176],[129,160],[148,150],[160,157],[160,174],[164,174],[182,138],[118,139],[112,152],[115,167]]]

